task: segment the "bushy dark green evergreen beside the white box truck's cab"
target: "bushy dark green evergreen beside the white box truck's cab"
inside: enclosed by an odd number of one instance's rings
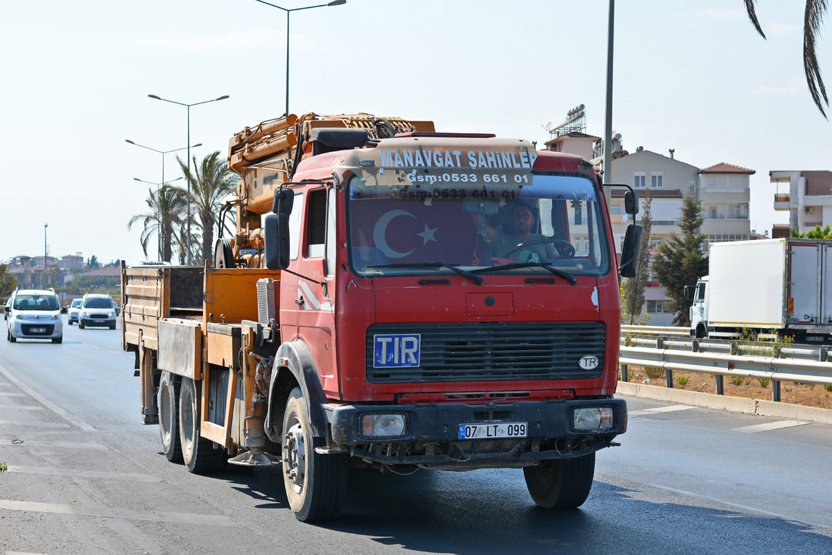
[[[702,254],[704,235],[699,233],[703,221],[702,203],[693,195],[686,196],[679,222],[681,237],[672,235],[653,260],[656,277],[671,298],[671,311],[676,312],[674,325],[690,325],[691,301],[685,299],[685,285],[696,285],[708,273],[708,259]]]

